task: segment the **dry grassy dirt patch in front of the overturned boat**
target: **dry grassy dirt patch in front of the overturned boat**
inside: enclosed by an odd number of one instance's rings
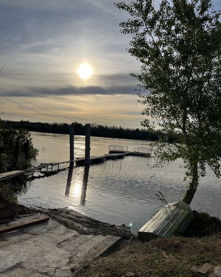
[[[72,276],[192,276],[192,266],[221,265],[221,233],[203,238],[172,237],[143,243],[122,241],[110,255],[84,264]],[[212,272],[214,267],[212,267]],[[168,272],[170,271],[170,272]]]

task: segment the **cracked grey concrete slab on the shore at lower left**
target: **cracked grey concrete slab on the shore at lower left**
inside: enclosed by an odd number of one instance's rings
[[[45,216],[26,217],[8,225]],[[71,276],[71,267],[77,270],[120,239],[111,235],[80,235],[52,219],[12,231],[0,235],[0,277]]]

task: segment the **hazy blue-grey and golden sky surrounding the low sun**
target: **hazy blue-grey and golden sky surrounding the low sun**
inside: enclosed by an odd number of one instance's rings
[[[160,0],[155,1],[159,3]],[[139,128],[140,64],[126,49],[119,23],[128,14],[113,0],[0,0],[0,89],[70,118],[71,122]],[[216,9],[221,1],[215,0]],[[77,73],[87,63],[93,74]],[[0,90],[30,109],[61,118]],[[0,97],[2,119],[65,122]],[[63,118],[69,121],[68,119]],[[66,122],[68,123],[68,122]]]

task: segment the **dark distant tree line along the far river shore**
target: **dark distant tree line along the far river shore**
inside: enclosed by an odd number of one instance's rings
[[[85,126],[78,122],[73,122],[74,133],[76,135],[85,135]],[[54,134],[69,134],[70,125],[67,123],[43,123],[43,122],[29,122],[29,121],[11,121],[5,120],[4,127],[6,129],[25,129],[29,131],[54,133]],[[151,133],[146,129],[132,129],[121,126],[107,126],[95,123],[91,127],[91,136],[116,138],[116,139],[139,139],[139,140],[158,140],[157,134]],[[168,134],[168,140],[174,141],[173,134]]]

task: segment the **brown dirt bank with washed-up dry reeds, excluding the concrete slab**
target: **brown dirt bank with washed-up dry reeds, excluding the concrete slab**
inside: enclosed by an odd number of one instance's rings
[[[44,209],[44,212],[82,235],[123,237],[107,255],[82,261],[80,269],[72,267],[71,277],[190,277],[188,272],[192,266],[211,263],[214,265],[211,272],[215,266],[221,266],[221,221],[207,213],[193,211],[194,223],[189,237],[142,242],[126,226],[99,222],[67,209]]]

